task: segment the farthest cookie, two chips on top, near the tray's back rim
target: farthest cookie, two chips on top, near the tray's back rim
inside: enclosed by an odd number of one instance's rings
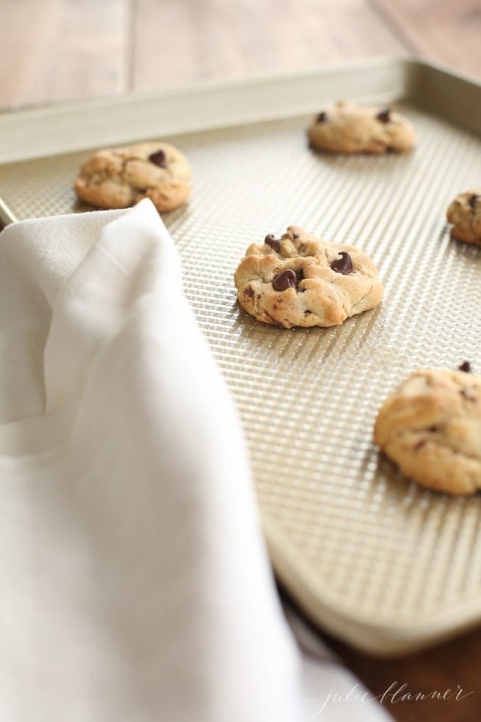
[[[414,143],[414,129],[400,113],[345,100],[319,113],[307,135],[312,147],[331,153],[402,152]]]

